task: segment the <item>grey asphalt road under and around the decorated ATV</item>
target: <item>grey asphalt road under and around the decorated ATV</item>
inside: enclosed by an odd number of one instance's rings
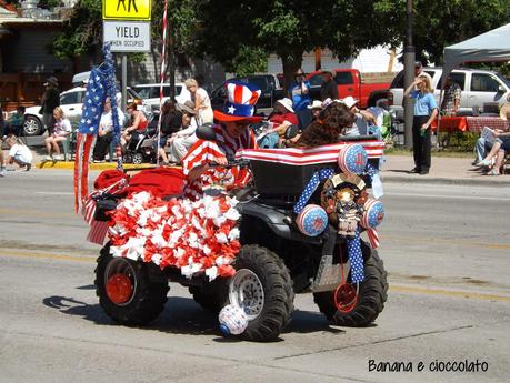
[[[9,172],[0,179],[0,383],[508,381],[510,191],[384,187],[390,291],[377,323],[330,326],[300,294],[280,341],[258,344],[223,339],[217,318],[176,284],[150,326],[112,323],[94,294],[99,246],[84,242],[73,213],[71,173]],[[412,372],[378,371],[381,362]],[[478,371],[436,371],[447,362]]]

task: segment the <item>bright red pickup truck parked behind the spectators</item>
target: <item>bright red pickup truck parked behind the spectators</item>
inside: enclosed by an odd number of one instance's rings
[[[334,81],[338,85],[338,97],[343,99],[352,95],[360,101],[361,108],[376,107],[387,99],[390,82],[364,83],[357,69],[336,69]],[[310,82],[310,97],[320,100],[320,85],[323,82],[323,71],[314,71],[307,75]]]

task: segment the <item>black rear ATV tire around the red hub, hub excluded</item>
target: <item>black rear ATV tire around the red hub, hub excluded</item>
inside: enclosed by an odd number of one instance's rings
[[[110,255],[110,248],[106,245],[98,258],[96,268],[96,293],[99,304],[108,316],[127,325],[142,325],[153,321],[164,309],[167,303],[168,282],[153,282],[149,279],[149,264],[142,261],[132,261]],[[134,281],[133,292],[128,302],[117,304],[112,302],[106,289],[108,274],[124,272]]]

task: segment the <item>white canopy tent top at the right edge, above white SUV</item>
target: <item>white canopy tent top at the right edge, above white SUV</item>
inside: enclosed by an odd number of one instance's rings
[[[463,62],[510,61],[510,23],[444,48],[443,83]]]

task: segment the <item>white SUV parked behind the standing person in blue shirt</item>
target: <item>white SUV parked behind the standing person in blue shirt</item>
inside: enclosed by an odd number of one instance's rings
[[[432,78],[436,101],[439,104],[441,92],[442,68],[423,68],[426,73]],[[460,85],[462,90],[460,98],[460,115],[472,115],[473,108],[480,109],[484,104],[499,103],[504,100],[506,93],[510,90],[510,82],[498,72],[461,68],[454,69],[450,73],[451,79]],[[391,82],[388,93],[390,109],[396,112],[398,120],[403,120],[403,71],[399,72]]]

